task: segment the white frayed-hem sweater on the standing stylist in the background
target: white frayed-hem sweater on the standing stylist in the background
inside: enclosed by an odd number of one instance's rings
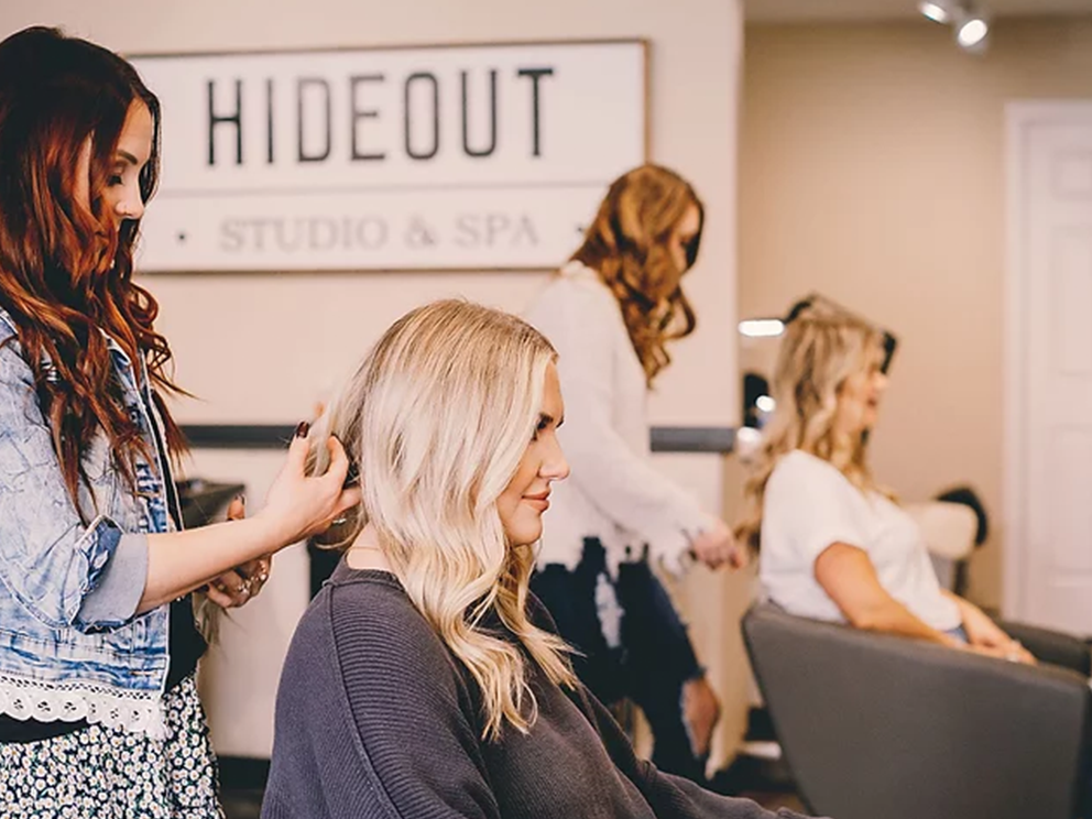
[[[649,556],[673,571],[712,518],[651,463],[644,369],[618,299],[599,274],[569,262],[526,313],[558,352],[565,425],[558,437],[568,480],[554,484],[539,565],[577,566],[598,537],[613,571]]]

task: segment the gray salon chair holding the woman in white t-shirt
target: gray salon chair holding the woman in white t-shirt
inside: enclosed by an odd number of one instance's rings
[[[747,653],[808,809],[837,819],[1081,816],[1089,646],[1004,627],[1038,667],[753,607]]]

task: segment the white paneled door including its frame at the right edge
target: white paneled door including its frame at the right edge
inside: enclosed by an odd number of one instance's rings
[[[1092,102],[1007,117],[1005,613],[1092,635]]]

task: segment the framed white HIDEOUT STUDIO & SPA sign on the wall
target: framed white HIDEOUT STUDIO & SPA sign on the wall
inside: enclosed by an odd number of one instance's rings
[[[549,269],[647,156],[644,41],[138,56],[143,272]]]

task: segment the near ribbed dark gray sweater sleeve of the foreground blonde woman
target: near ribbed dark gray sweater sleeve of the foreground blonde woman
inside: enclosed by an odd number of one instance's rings
[[[369,779],[365,788],[337,779],[364,800],[346,816],[499,819],[461,675],[415,611],[372,603],[370,611],[357,601],[332,607],[335,653]]]

